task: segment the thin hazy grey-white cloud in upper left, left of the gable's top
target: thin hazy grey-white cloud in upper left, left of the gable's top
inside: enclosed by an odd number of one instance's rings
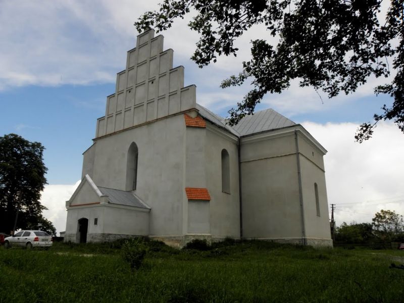
[[[0,89],[115,81],[134,45],[134,3],[2,2]]]

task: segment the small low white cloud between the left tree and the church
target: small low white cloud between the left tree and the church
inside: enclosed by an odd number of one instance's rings
[[[58,234],[66,230],[66,201],[70,199],[80,180],[72,185],[46,185],[42,191],[41,204],[48,210],[43,211],[43,216],[51,221]]]

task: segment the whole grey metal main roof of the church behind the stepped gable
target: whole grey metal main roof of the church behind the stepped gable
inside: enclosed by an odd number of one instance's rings
[[[205,107],[196,104],[196,109],[202,117],[238,137],[296,125],[273,109],[267,109],[258,111],[254,115],[247,115],[237,125],[231,127],[226,124],[226,119],[219,117]]]

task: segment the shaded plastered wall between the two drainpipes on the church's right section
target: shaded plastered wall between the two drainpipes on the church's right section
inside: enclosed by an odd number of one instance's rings
[[[293,133],[241,142],[243,237],[301,238]]]

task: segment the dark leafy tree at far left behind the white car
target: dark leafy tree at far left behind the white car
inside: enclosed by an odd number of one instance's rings
[[[44,147],[19,135],[0,137],[0,232],[10,233],[18,212],[17,229],[40,229],[56,235],[42,216],[39,199],[46,184]]]

